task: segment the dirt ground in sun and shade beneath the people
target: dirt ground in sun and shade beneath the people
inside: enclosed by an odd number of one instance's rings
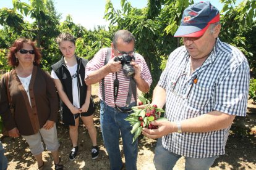
[[[79,127],[79,155],[75,161],[69,161],[68,155],[72,144],[69,139],[69,128],[64,124],[57,123],[59,138],[59,153],[65,169],[109,169],[108,155],[103,145],[100,129],[99,99],[97,85],[93,86],[93,98],[97,105],[95,112],[95,126],[98,132],[98,145],[100,155],[92,160],[90,150],[92,144],[86,127]],[[226,154],[216,159],[211,170],[216,169],[256,169],[256,136],[251,135],[250,129],[256,126],[256,105],[249,101],[247,116],[236,117],[226,144]],[[22,137],[17,139],[1,136],[0,140],[6,148],[6,157],[9,160],[8,169],[37,169],[35,158],[28,148],[28,144]],[[120,140],[120,144],[122,141]],[[153,170],[154,148],[156,140],[139,137],[139,157],[137,167],[139,170]],[[120,145],[122,150],[122,145]],[[124,156],[123,156],[124,157]],[[46,162],[45,169],[54,169],[53,158],[45,150],[43,160]],[[123,158],[124,161],[124,158]],[[184,158],[181,158],[174,169],[184,169]]]

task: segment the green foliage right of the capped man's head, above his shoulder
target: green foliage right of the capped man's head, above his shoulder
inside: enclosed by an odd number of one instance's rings
[[[236,0],[221,0],[220,39],[238,47],[249,61],[252,75],[256,73],[255,33],[256,33],[256,1],[242,1],[235,6]]]

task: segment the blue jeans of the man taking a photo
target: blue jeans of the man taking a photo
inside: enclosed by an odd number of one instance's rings
[[[128,107],[129,108],[129,107]],[[116,108],[109,107],[100,101],[100,125],[106,150],[109,155],[110,169],[120,170],[122,158],[119,148],[119,135],[121,132],[124,147],[126,169],[137,169],[138,140],[132,144],[133,135],[130,133],[132,126],[124,120],[129,114],[122,113]]]

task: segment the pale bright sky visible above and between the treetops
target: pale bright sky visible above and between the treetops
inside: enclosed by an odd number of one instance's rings
[[[22,2],[29,3],[29,0],[20,0]],[[121,9],[120,0],[111,0],[115,9]],[[127,0],[133,7],[143,8],[147,6],[147,0]],[[194,1],[199,2],[199,1]],[[241,2],[238,0],[237,2]],[[55,8],[59,14],[61,14],[61,22],[66,19],[66,16],[70,14],[75,24],[80,24],[87,28],[87,30],[93,30],[97,25],[106,26],[109,22],[106,22],[104,17],[105,12],[105,0],[54,0]],[[221,10],[223,5],[218,1],[211,1],[213,6]],[[12,0],[0,0],[0,9],[2,7],[12,8]],[[29,19],[26,18],[28,21]]]

